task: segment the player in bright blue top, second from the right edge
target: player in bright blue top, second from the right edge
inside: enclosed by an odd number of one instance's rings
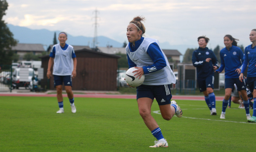
[[[229,97],[231,95],[232,89],[234,89],[234,84],[237,86],[237,91],[241,92],[245,110],[246,117],[250,119],[249,112],[249,100],[246,93],[245,81],[239,80],[239,74],[241,72],[241,66],[244,61],[243,51],[237,47],[237,39],[233,38],[231,35],[224,36],[225,48],[220,51],[221,65],[216,72],[220,73],[225,68],[225,96],[222,102],[222,112],[220,119],[225,119],[226,109],[229,103]]]

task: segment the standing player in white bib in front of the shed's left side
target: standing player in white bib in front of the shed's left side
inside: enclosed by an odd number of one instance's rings
[[[50,59],[48,62],[47,78],[53,75],[54,87],[57,90],[57,100],[60,110],[57,113],[64,113],[62,84],[64,83],[67,96],[69,98],[71,111],[76,113],[74,105],[74,94],[72,92],[72,78],[76,77],[77,59],[73,46],[66,44],[67,34],[61,32],[59,34],[59,44],[55,44],[50,52]],[[53,72],[51,73],[51,66],[53,65]]]

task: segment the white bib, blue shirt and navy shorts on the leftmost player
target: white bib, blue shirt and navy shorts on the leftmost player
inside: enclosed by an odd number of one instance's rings
[[[49,55],[54,58],[53,76],[54,86],[62,85],[72,86],[71,75],[74,69],[73,58],[76,58],[73,46],[65,44],[61,47],[60,44],[55,44]]]

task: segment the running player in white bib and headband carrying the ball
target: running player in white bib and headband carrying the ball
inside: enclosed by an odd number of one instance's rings
[[[129,68],[135,67],[136,77],[145,74],[142,85],[137,87],[137,104],[139,114],[157,141],[150,147],[168,147],[161,129],[151,115],[151,106],[156,99],[161,115],[165,120],[171,120],[174,114],[182,116],[182,110],[175,101],[171,102],[170,84],[176,83],[176,78],[169,62],[159,47],[159,42],[152,38],[144,38],[145,27],[141,23],[144,17],[135,17],[127,26],[128,44],[126,53]],[[171,105],[170,105],[171,104]]]

